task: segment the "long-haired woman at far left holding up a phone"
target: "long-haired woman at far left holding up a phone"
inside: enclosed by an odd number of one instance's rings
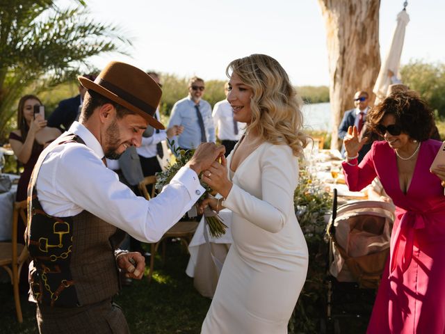
[[[11,148],[24,167],[17,186],[17,202],[26,200],[28,183],[40,152],[61,134],[59,129],[47,127],[47,121],[40,113],[42,109],[34,106],[42,106],[42,102],[35,95],[24,95],[19,100],[17,130],[9,134]],[[20,230],[22,228],[23,225],[19,224],[19,241],[22,239],[23,242],[24,228],[23,232]]]

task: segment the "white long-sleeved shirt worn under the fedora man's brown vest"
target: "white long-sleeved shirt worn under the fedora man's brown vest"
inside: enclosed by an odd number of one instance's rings
[[[181,168],[158,196],[147,201],[106,168],[102,146],[86,127],[74,122],[69,132],[86,145],[58,145],[47,154],[37,177],[39,201],[51,216],[74,216],[87,210],[140,241],[155,242],[204,191],[195,171]]]

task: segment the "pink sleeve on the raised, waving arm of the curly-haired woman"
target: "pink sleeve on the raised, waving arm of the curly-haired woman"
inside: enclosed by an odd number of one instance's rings
[[[357,159],[350,160],[349,164],[343,161],[341,166],[343,167],[343,174],[350,191],[361,191],[365,186],[371,184],[375,176],[377,176],[373,159],[375,159],[375,143],[373,143],[371,150],[364,156],[360,164],[357,165]]]

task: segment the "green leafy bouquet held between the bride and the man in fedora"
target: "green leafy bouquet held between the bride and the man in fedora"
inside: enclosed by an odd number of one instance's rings
[[[195,150],[179,150],[179,148],[175,148],[175,141],[168,141],[168,143],[170,148],[173,148],[172,150],[175,153],[176,161],[174,164],[170,164],[163,172],[156,173],[156,185],[154,188],[159,192],[163,189],[163,186],[170,183],[181,167],[186,166],[187,162],[191,159],[191,157],[193,157],[193,152],[195,152]],[[208,184],[201,182],[201,185],[204,189],[206,189],[206,191],[202,194],[198,202],[200,202],[200,200],[204,200],[204,198],[207,196],[211,196],[212,192]],[[222,219],[216,212],[206,208],[204,210],[204,218],[209,226],[209,232],[212,237],[220,238],[223,236],[223,234],[225,234],[227,225],[223,223]]]

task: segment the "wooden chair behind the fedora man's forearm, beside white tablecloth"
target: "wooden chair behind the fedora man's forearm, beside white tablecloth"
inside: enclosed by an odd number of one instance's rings
[[[147,176],[139,182],[139,190],[143,193],[144,197],[147,200],[151,200],[156,196],[154,191],[154,184],[156,184],[156,176]],[[150,191],[151,189],[151,191]],[[151,244],[150,246],[150,269],[147,275],[148,281],[152,280],[153,269],[154,269],[154,257],[156,252],[158,251],[159,245],[162,244],[162,260],[165,261],[165,239],[168,238],[179,238],[181,244],[184,244],[188,249],[188,243],[191,241],[193,234],[197,228],[198,223],[196,221],[179,221],[175,225],[173,225],[170,230],[165,232],[161,240],[158,242]]]

